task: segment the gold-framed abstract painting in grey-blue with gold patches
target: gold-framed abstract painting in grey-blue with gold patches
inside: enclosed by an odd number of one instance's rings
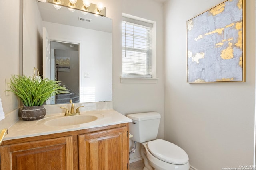
[[[187,21],[187,82],[245,82],[245,0]]]

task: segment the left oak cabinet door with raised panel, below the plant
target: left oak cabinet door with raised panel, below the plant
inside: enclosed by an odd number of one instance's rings
[[[72,136],[0,147],[2,170],[72,170]]]

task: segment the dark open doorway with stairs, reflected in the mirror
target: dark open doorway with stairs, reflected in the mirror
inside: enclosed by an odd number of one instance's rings
[[[58,94],[51,104],[74,103],[89,100],[86,94],[79,95],[79,44],[51,41],[50,79],[58,80],[70,93]]]

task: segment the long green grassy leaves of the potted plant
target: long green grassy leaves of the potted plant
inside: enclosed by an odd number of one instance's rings
[[[37,69],[36,69],[37,70]],[[39,76],[12,76],[10,90],[24,104],[24,106],[41,106],[51,96],[68,93],[68,90],[60,85],[60,81],[50,80]],[[53,100],[51,98],[51,100]]]

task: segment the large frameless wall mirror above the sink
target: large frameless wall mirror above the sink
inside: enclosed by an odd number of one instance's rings
[[[43,29],[48,34],[47,42],[43,41]],[[50,57],[45,58],[45,53]],[[68,68],[65,70],[59,64],[56,73],[56,63],[65,59]],[[77,65],[72,64],[74,61]],[[112,19],[79,10],[70,12],[66,7],[57,10],[50,3],[25,0],[23,74],[31,75],[32,66],[44,77],[48,73],[49,78],[57,75],[66,78],[65,82],[59,80],[78,94],[76,102],[112,101]]]

